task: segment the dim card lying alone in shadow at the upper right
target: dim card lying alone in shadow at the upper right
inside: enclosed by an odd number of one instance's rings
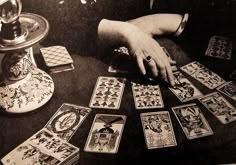
[[[232,54],[232,41],[222,36],[212,36],[209,40],[206,56],[230,60]]]

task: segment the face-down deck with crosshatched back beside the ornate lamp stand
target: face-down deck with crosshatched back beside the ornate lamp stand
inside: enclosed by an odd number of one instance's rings
[[[73,59],[63,46],[51,46],[40,49],[43,59],[51,73],[73,70]]]

